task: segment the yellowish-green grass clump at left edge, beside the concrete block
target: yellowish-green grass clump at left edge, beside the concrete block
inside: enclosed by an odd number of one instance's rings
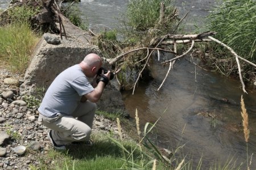
[[[0,27],[1,61],[7,63],[10,70],[23,73],[38,40],[27,22],[16,22]]]

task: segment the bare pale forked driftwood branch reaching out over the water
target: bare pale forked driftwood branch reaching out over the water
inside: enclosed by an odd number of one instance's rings
[[[159,58],[160,58],[160,54],[159,54],[159,51],[162,50],[162,51],[165,51],[165,52],[171,52],[173,54],[176,55],[176,44],[180,44],[180,43],[183,43],[183,44],[187,44],[187,43],[191,43],[191,46],[190,48],[183,54],[181,54],[180,56],[176,56],[168,61],[164,61],[162,62],[163,64],[166,64],[166,63],[169,63],[169,69],[167,71],[167,74],[165,76],[165,78],[163,79],[163,82],[160,84],[158,90],[160,90],[160,88],[163,86],[163,83],[165,82],[165,80],[167,79],[167,76],[168,74],[170,74],[170,71],[172,69],[172,67],[174,66],[174,63],[176,61],[176,59],[179,59],[181,57],[184,57],[185,55],[187,55],[189,52],[191,52],[191,50],[193,49],[193,46],[195,44],[195,42],[209,42],[209,41],[215,41],[217,42],[218,44],[221,44],[222,46],[224,46],[225,48],[228,48],[230,50],[230,52],[236,57],[236,62],[237,62],[237,67],[238,67],[238,72],[239,72],[239,76],[240,76],[240,81],[241,81],[241,84],[242,84],[242,90],[243,92],[246,92],[245,90],[245,83],[243,83],[243,79],[242,79],[242,75],[241,75],[241,68],[240,68],[240,62],[239,62],[239,59],[241,59],[242,61],[245,61],[246,63],[249,63],[250,65],[256,67],[256,65],[250,61],[247,61],[246,59],[238,56],[236,54],[236,52],[234,52],[234,50],[232,48],[230,48],[228,45],[225,45],[223,42],[217,40],[217,39],[214,39],[211,35],[215,35],[216,32],[203,32],[203,33],[200,33],[198,35],[164,35],[162,37],[155,37],[154,39],[151,40],[150,42],[150,46],[152,45],[155,45],[155,48],[139,48],[139,49],[134,49],[134,50],[130,50],[129,52],[126,52],[126,53],[123,53],[117,57],[115,57],[114,59],[112,59],[112,61],[110,61],[110,65],[113,65],[114,63],[116,63],[117,61],[119,61],[120,59],[122,59],[126,54],[128,53],[132,53],[132,52],[136,52],[138,50],[144,50],[144,49],[147,49],[147,55],[146,57],[144,57],[141,61],[146,60],[146,62],[144,63],[144,67],[142,68],[142,70],[139,72],[138,74],[138,78],[136,80],[136,82],[134,83],[134,86],[133,86],[133,94],[134,94],[134,91],[135,91],[135,86],[137,85],[138,83],[138,80],[139,78],[141,77],[141,74],[143,72],[143,70],[145,69],[147,63],[148,63],[148,60],[150,59],[150,56],[152,54],[152,52],[154,51],[157,51],[158,53],[158,61],[159,61]],[[158,46],[161,45],[161,46],[165,46],[165,45],[174,45],[174,51],[172,50],[165,50],[163,48],[158,48]],[[149,54],[149,50],[151,50],[151,53]],[[139,61],[139,62],[141,62]],[[119,70],[118,70],[119,71]]]

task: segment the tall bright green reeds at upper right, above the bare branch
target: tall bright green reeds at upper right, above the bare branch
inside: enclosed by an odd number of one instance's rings
[[[217,32],[214,37],[230,46],[239,56],[250,61],[256,60],[256,3],[254,0],[224,0],[220,6],[214,8],[208,18],[209,29]]]

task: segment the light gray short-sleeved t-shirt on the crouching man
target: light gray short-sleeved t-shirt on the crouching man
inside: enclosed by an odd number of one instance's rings
[[[77,108],[81,96],[93,90],[81,67],[74,65],[53,80],[38,111],[46,117],[55,117],[59,113],[70,115]]]

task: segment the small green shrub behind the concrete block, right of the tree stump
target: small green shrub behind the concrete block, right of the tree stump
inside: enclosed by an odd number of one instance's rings
[[[82,22],[82,19],[80,18],[80,10],[77,5],[71,5],[70,3],[67,3],[66,8],[61,8],[61,12],[63,15],[65,15],[70,22],[72,22],[74,25],[81,29],[88,29],[88,25]]]

